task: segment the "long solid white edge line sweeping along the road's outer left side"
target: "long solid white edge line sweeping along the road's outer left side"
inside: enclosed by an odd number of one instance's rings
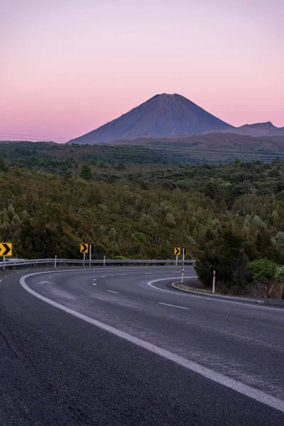
[[[66,272],[66,271],[57,271],[57,272],[60,273],[60,272]],[[213,371],[210,368],[204,367],[200,364],[197,364],[196,362],[185,359],[182,356],[173,354],[173,352],[167,351],[166,349],[162,349],[159,346],[155,346],[155,344],[151,344],[149,342],[146,342],[145,340],[138,339],[138,337],[131,336],[131,334],[122,332],[121,330],[116,329],[115,327],[111,327],[108,324],[104,324],[104,322],[100,322],[98,320],[94,320],[94,318],[87,317],[87,315],[80,314],[80,312],[76,312],[75,310],[72,310],[69,307],[60,305],[60,303],[58,302],[54,302],[54,300],[48,299],[48,297],[45,297],[43,295],[40,295],[39,293],[36,293],[34,290],[28,287],[28,285],[26,284],[26,279],[33,275],[40,275],[43,273],[44,272],[30,273],[28,275],[24,275],[23,277],[20,278],[21,286],[28,293],[31,293],[31,295],[38,297],[38,299],[40,300],[43,300],[43,302],[46,302],[49,305],[57,307],[58,309],[64,312],[67,312],[70,315],[74,315],[75,317],[80,318],[80,320],[89,322],[89,324],[93,324],[95,327],[99,327],[100,329],[103,329],[106,332],[114,334],[117,337],[121,337],[121,339],[124,339],[133,344],[136,344],[137,346],[143,349],[151,351],[153,352],[153,354],[163,356],[163,358],[173,361],[176,364],[182,367],[185,367],[190,371],[195,371],[195,373],[199,373],[203,377],[209,378],[210,380],[216,383],[226,386],[226,388],[233,389],[234,391],[239,392],[242,395],[246,395],[249,398],[257,400],[259,403],[263,403],[265,405],[268,405],[271,408],[275,408],[275,410],[280,410],[282,413],[284,413],[284,401],[280,400],[279,398],[275,398],[274,396],[269,395],[268,393],[265,393],[263,391],[260,391],[259,389],[252,388],[251,386],[245,385],[244,383],[241,383],[240,381],[236,381],[233,378],[229,378],[227,376],[224,376],[223,374],[217,373],[217,371]]]

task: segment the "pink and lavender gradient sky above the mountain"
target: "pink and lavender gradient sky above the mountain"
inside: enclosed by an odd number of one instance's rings
[[[67,141],[163,92],[284,126],[283,21],[283,0],[0,0],[0,139]]]

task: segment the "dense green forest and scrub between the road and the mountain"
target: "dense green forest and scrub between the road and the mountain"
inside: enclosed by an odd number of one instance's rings
[[[223,293],[284,297],[280,158],[177,165],[73,152],[53,164],[30,147],[1,151],[0,240],[14,256],[80,258],[88,241],[94,258],[167,259],[185,246],[204,285],[214,269]]]

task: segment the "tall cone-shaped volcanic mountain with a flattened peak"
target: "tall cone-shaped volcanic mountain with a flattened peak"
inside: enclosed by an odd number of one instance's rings
[[[156,94],[118,119],[67,142],[102,143],[119,139],[173,137],[233,130],[234,127],[180,94]]]

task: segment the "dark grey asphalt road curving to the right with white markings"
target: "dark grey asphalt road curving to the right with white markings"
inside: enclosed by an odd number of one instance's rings
[[[5,278],[0,425],[283,426],[284,310],[169,288],[180,272]]]

